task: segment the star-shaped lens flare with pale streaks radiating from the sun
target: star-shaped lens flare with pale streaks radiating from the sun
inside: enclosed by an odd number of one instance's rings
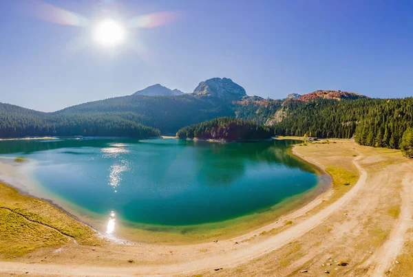
[[[102,0],[107,6],[103,12],[112,14],[109,6],[115,3],[115,0]],[[81,49],[89,47],[92,43],[98,43],[109,49],[114,46],[125,44],[129,50],[136,52],[144,60],[156,60],[156,53],[144,45],[142,41],[134,39],[133,29],[152,28],[162,25],[169,25],[178,21],[183,15],[182,11],[162,11],[151,14],[141,14],[125,22],[125,25],[113,19],[105,21],[95,21],[87,18],[82,14],[59,8],[45,0],[27,0],[19,5],[19,10],[36,19],[48,21],[59,25],[70,25],[76,27],[86,27],[89,29],[87,35],[80,35],[67,44],[70,52],[78,52]],[[107,15],[106,15],[107,16]],[[128,33],[131,35],[128,35]]]

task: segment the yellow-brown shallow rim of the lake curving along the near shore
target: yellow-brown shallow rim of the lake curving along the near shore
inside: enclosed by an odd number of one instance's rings
[[[308,205],[312,201],[315,201],[320,197],[320,195],[324,195],[332,187],[332,180],[330,175],[326,173],[324,170],[321,170],[317,165],[308,163],[306,159],[302,159],[299,155],[296,155],[293,148],[295,145],[290,147],[290,155],[293,155],[295,158],[300,159],[301,162],[306,164],[310,164],[312,168],[315,169],[317,175],[319,175],[319,181],[317,184],[310,188],[305,192],[301,192],[299,195],[293,195],[291,197],[287,197],[283,199],[279,203],[275,205],[264,208],[263,210],[257,212],[251,212],[251,214],[245,214],[244,216],[237,217],[235,219],[229,219],[226,221],[220,221],[215,223],[204,223],[198,225],[183,225],[183,226],[168,226],[168,225],[150,225],[150,224],[140,224],[140,223],[131,223],[127,221],[123,221],[124,223],[119,225],[118,231],[116,232],[119,237],[116,237],[119,241],[127,241],[129,243],[156,243],[160,245],[184,245],[184,244],[196,244],[202,243],[203,241],[208,241],[209,238],[217,237],[217,239],[233,239],[237,236],[241,236],[242,234],[254,232],[255,230],[261,230],[266,228],[268,225],[271,225],[273,221],[277,221],[282,217],[288,216],[304,206]],[[1,161],[0,161],[1,163]],[[1,166],[1,164],[0,164]],[[14,166],[19,166],[16,164]],[[0,170],[1,173],[1,170]],[[328,180],[323,179],[322,176],[328,176]],[[0,179],[4,179],[3,176],[0,175]],[[6,178],[7,179],[7,178]],[[12,184],[10,181],[5,181],[5,184],[12,188],[16,188],[19,193],[23,195],[28,195],[29,197],[33,197],[35,199],[41,199],[50,203],[50,205],[54,206],[55,208],[64,212],[68,217],[75,219],[76,221],[86,225],[87,227],[91,228],[92,230],[98,232],[101,236],[108,237],[105,232],[103,232],[105,228],[105,215],[99,214],[98,217],[92,216],[93,212],[89,212],[85,210],[84,212],[79,212],[79,210],[83,210],[83,208],[79,207],[80,209],[76,209],[76,205],[66,201],[65,199],[61,199],[61,197],[56,196],[59,202],[63,204],[56,203],[56,201],[49,199],[47,197],[38,197],[36,193],[32,193],[28,191],[28,187],[30,184],[23,184],[22,186]],[[24,183],[24,181],[20,181],[19,183]],[[41,185],[37,186],[38,193],[39,188],[41,189]],[[40,192],[42,194],[42,192]],[[43,194],[47,195],[47,193],[43,192]],[[53,197],[53,195],[50,195]],[[65,203],[66,206],[65,207]],[[73,206],[72,208],[69,208]],[[87,215],[89,214],[89,216]],[[100,218],[100,219],[99,219]],[[255,222],[255,223],[254,223]],[[125,224],[126,223],[126,224]],[[254,224],[252,224],[254,223]],[[253,225],[253,226],[251,226]],[[100,227],[97,227],[100,226]],[[132,227],[130,227],[132,226]],[[244,226],[244,227],[243,227]],[[157,230],[153,232],[152,230]],[[184,234],[180,234],[180,230],[193,230],[190,236],[185,236]],[[156,235],[155,235],[156,234]],[[156,239],[157,237],[167,237],[167,239]],[[202,239],[202,237],[207,236],[207,238]],[[169,238],[169,239],[168,239]]]

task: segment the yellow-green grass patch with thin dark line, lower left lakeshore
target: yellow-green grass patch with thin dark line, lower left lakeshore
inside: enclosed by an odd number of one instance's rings
[[[22,256],[72,239],[81,245],[101,243],[94,230],[62,210],[0,183],[0,257]]]

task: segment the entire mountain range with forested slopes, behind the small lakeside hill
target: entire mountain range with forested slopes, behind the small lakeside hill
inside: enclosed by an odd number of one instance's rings
[[[341,138],[355,135],[356,141],[363,145],[399,148],[403,134],[413,127],[413,98],[371,99],[354,92],[319,90],[295,100],[272,100],[247,96],[229,78],[200,82],[193,93],[175,96],[168,94],[171,92],[155,85],[131,96],[87,102],[54,113],[0,104],[0,137],[143,138],[159,133],[175,134],[191,124],[231,117],[265,124],[274,128],[277,135]],[[168,95],[159,96],[165,93]],[[410,141],[408,134],[404,137]]]

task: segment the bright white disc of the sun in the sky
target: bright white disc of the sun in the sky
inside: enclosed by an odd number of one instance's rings
[[[96,25],[94,37],[101,45],[120,45],[125,41],[125,27],[112,19],[106,19]]]

